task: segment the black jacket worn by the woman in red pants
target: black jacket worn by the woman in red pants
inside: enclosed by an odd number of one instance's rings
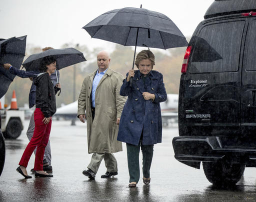
[[[53,87],[48,73],[39,73],[35,78],[36,85],[35,107],[40,108],[44,117],[50,117],[56,112],[55,94],[59,90]]]

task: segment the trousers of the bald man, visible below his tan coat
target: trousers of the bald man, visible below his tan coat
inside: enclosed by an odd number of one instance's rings
[[[117,161],[112,153],[93,153],[87,168],[96,174],[102,158],[104,158],[107,172],[117,172]]]

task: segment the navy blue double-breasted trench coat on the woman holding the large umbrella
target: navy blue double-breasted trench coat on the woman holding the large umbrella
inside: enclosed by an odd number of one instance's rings
[[[126,77],[127,75],[128,73]],[[132,86],[124,79],[120,88],[120,95],[128,97],[122,110],[117,140],[134,145],[138,145],[141,134],[142,144],[161,142],[160,102],[165,101],[167,97],[160,72],[151,70],[145,78],[145,84],[142,76],[139,70],[135,70]],[[145,100],[142,92],[153,93],[154,101]]]

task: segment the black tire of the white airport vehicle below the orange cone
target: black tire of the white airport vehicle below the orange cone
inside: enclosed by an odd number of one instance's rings
[[[18,118],[11,118],[5,128],[4,137],[16,139],[22,131],[22,124]]]

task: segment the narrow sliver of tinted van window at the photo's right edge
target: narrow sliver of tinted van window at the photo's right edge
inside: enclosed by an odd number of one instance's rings
[[[247,52],[247,70],[256,70],[256,20],[251,21],[250,34],[249,34],[249,43],[248,43],[248,52]]]

